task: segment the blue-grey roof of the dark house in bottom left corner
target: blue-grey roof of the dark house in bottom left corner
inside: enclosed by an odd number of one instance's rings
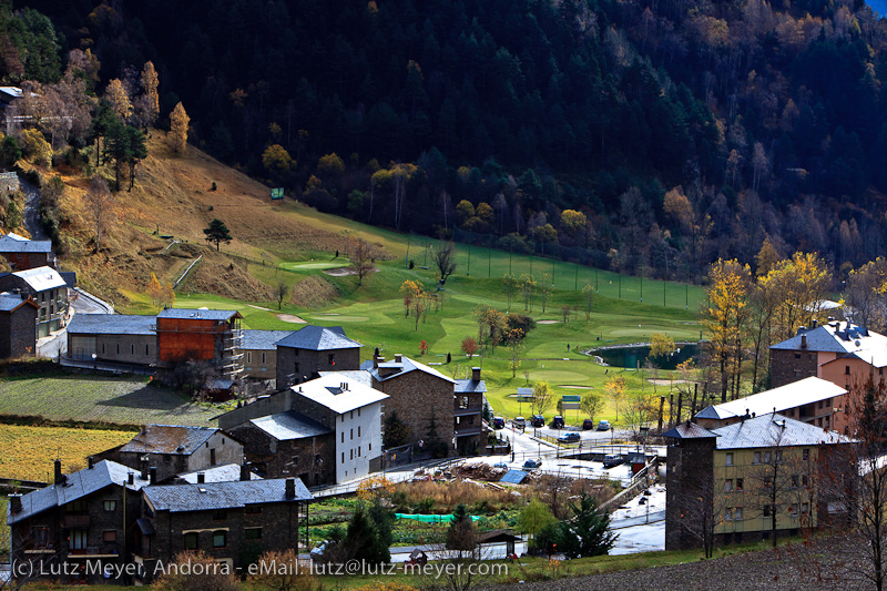
[[[130,472],[134,473],[132,485],[128,480]],[[111,485],[123,486],[124,482],[128,482],[126,488],[130,490],[141,490],[142,487],[147,485],[147,480],[142,480],[139,472],[132,468],[111,460],[98,461],[92,469],[85,468],[79,472],[68,475],[68,480],[64,485],[52,485],[24,495],[21,498],[22,510],[14,516],[8,512],[7,522],[9,524],[16,523],[53,507],[67,505],[92,495]]]

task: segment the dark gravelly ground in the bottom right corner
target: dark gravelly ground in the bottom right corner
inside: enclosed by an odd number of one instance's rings
[[[835,590],[874,589],[854,577],[843,563],[843,540],[824,539],[812,544],[781,547],[731,557],[646,569],[498,585],[502,591],[608,591],[608,590]],[[569,561],[563,563],[569,568]]]

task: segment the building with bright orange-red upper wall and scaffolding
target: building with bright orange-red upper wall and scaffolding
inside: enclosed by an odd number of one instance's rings
[[[207,361],[223,379],[243,375],[243,316],[236,310],[166,308],[157,314],[159,366]]]

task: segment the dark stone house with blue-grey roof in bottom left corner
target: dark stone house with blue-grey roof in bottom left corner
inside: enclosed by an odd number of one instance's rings
[[[51,486],[9,497],[11,559],[30,565],[19,572],[65,584],[106,582],[105,568],[118,573],[129,562],[146,485],[149,479],[114,461],[90,458],[85,469],[64,475],[57,460]]]

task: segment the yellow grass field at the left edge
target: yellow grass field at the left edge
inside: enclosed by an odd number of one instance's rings
[[[86,457],[132,439],[134,431],[0,425],[0,477],[49,482],[52,461],[65,472],[86,467]],[[6,513],[3,513],[6,514]]]

